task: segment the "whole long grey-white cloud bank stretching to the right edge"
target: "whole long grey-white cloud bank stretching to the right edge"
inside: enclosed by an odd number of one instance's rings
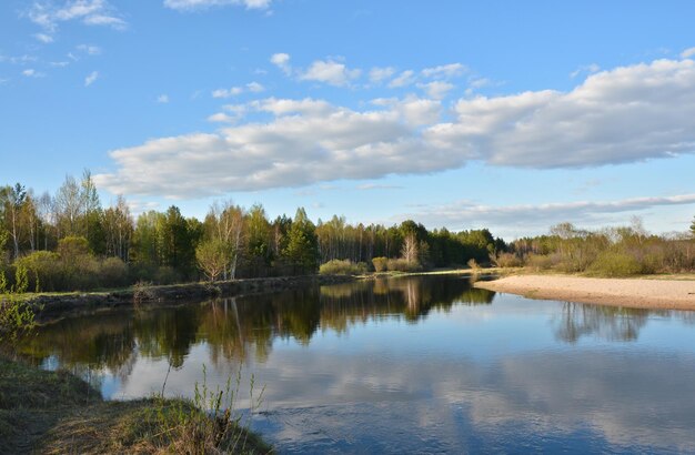
[[[583,168],[693,153],[695,61],[602,71],[568,92],[460,99],[445,121],[440,101],[415,97],[374,100],[363,111],[272,98],[244,109],[274,118],[114,151],[118,171],[102,174],[101,184],[192,196],[429,173],[470,161]]]

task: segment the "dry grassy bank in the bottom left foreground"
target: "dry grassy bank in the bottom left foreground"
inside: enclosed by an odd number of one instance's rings
[[[0,454],[272,452],[223,417],[185,400],[104,402],[71,374],[0,357]]]

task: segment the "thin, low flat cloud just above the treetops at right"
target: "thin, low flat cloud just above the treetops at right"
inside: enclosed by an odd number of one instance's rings
[[[575,201],[546,204],[480,205],[471,201],[427,206],[416,213],[399,216],[399,220],[422,220],[430,226],[523,226],[525,230],[545,231],[552,224],[570,221],[590,223],[597,216],[615,213],[638,212],[657,206],[695,204],[695,194],[672,196],[629,198],[617,201]],[[625,216],[622,216],[623,221]],[[515,231],[515,229],[512,229]]]

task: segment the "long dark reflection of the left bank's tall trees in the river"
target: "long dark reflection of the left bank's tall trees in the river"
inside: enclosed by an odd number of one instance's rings
[[[138,356],[183,365],[191,346],[207,343],[212,361],[268,358],[275,337],[309,344],[319,327],[346,332],[382,317],[415,323],[455,303],[490,304],[494,293],[466,280],[403,277],[310,286],[202,304],[95,314],[42,327],[22,350],[56,355],[63,366],[108,368],[127,380]]]

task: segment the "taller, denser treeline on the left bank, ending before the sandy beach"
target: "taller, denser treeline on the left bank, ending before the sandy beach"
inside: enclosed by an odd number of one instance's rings
[[[334,273],[414,271],[484,264],[505,251],[486,229],[354,225],[340,216],[314,224],[303,209],[270,220],[261,205],[230,202],[213,204],[204,220],[175,205],[134,218],[122,196],[102,206],[89,171],[66,178],[56,194],[0,188],[0,280],[31,291],[311,274],[321,264]]]

